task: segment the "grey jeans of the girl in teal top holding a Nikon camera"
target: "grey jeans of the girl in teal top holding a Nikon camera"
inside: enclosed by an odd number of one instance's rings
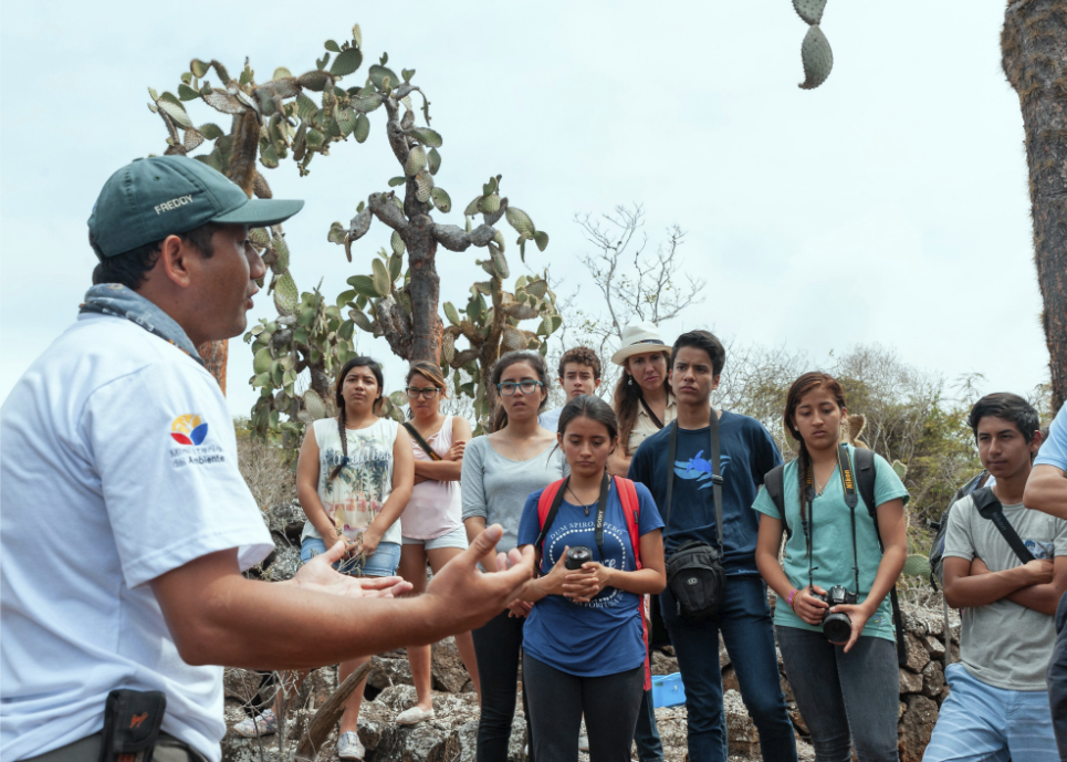
[[[860,637],[845,653],[822,633],[778,627],[796,708],[818,762],[897,762],[900,674],[892,640]]]

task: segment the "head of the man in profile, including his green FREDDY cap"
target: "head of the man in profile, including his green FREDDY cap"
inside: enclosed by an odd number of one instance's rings
[[[252,281],[266,272],[248,242],[249,228],[282,222],[303,206],[249,198],[222,174],[184,156],[134,160],[104,184],[88,218],[90,244],[101,261],[93,282],[118,283],[145,298],[193,347],[236,336],[259,291]],[[96,295],[87,295],[90,309]]]

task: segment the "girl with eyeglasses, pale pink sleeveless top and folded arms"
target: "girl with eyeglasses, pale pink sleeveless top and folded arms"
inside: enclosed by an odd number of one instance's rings
[[[427,560],[437,574],[467,549],[459,479],[471,427],[462,416],[441,413],[441,398],[447,394],[437,364],[411,363],[405,392],[410,400],[409,420],[404,426],[411,435],[415,452],[415,489],[404,509],[400,576],[411,583],[411,594],[419,595],[426,591]],[[480,692],[471,634],[457,635],[456,646],[474,690]],[[408,664],[418,702],[400,712],[396,721],[409,726],[433,718],[430,647],[409,646]]]

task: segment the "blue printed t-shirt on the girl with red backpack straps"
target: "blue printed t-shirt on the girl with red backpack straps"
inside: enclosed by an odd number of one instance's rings
[[[638,533],[662,529],[663,522],[648,490],[636,484],[640,505]],[[537,501],[544,490],[526,499],[519,523],[519,545],[532,545],[541,534]],[[623,515],[615,480],[608,491],[604,513],[604,555],[596,546],[596,503],[589,507],[559,503],[545,537],[541,573],[547,574],[563,549],[585,545],[593,560],[611,568],[634,572],[634,547]],[[548,595],[534,604],[523,626],[522,647],[550,667],[578,677],[604,677],[634,669],[645,662],[641,596],[617,587],[606,587],[589,603],[575,603],[562,595]]]

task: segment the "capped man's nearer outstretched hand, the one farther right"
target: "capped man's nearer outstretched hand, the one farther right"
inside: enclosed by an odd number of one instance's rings
[[[449,633],[463,633],[481,627],[509,608],[523,586],[533,577],[534,551],[512,550],[496,555],[496,572],[487,574],[478,562],[489,554],[503,536],[500,524],[483,530],[465,551],[449,561],[433,575],[426,591],[427,603]]]

